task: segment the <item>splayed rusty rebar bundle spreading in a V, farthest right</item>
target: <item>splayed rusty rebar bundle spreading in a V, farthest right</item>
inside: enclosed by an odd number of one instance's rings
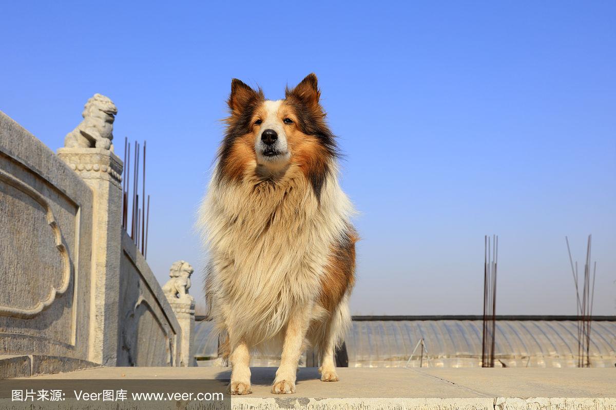
[[[569,246],[569,238],[565,236],[567,242],[567,252],[569,252],[569,263],[571,264],[571,273],[573,274],[573,283],[575,284],[575,296],[577,298],[577,341],[578,341],[578,367],[590,368],[590,330],[593,315],[594,301],[594,277],[597,272],[597,262],[594,262],[593,274],[590,273],[591,267],[591,245],[592,236],[588,235],[588,243],[586,245],[586,262],[584,264],[584,277],[582,283],[582,295],[580,295],[579,276],[577,261],[573,263],[571,256],[571,248]],[[592,276],[592,283],[591,283]]]

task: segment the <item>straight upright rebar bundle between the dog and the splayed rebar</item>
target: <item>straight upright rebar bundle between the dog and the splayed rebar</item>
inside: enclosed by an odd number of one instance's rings
[[[498,266],[498,236],[492,241],[485,235],[484,251],[484,331],[481,348],[481,366],[494,367],[494,340],[496,333],[496,267]]]

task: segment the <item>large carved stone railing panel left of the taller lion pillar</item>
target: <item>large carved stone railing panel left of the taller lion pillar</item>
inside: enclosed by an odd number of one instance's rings
[[[0,112],[0,352],[89,360],[92,191]]]

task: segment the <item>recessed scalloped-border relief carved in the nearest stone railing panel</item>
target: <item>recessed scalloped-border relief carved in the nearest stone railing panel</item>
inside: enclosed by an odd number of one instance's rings
[[[2,221],[3,218],[7,220]],[[33,317],[67,291],[71,261],[45,197],[2,170],[0,235],[11,238],[0,246],[2,266],[6,269],[0,271],[6,290],[0,298],[0,315]],[[34,280],[32,275],[36,275]]]

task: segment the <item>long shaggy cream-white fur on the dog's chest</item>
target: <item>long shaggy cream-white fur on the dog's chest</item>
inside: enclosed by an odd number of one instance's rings
[[[318,298],[330,246],[351,212],[333,176],[320,203],[299,170],[275,184],[211,183],[199,224],[215,320],[254,342],[275,337],[294,308]]]

